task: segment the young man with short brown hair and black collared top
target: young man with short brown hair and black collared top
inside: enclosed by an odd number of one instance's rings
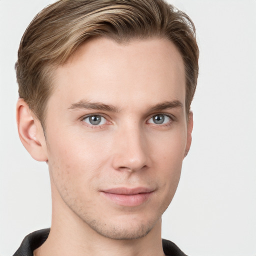
[[[21,142],[48,164],[52,223],[14,255],[185,255],[161,240],[191,143],[192,21],[162,0],[59,0],[16,63]]]

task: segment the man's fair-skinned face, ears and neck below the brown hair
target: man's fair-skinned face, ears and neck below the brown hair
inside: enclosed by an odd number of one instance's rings
[[[184,105],[182,58],[159,38],[80,46],[55,70],[45,136],[18,100],[20,139],[51,182],[51,230],[35,256],[164,255],[161,215],[191,143]]]

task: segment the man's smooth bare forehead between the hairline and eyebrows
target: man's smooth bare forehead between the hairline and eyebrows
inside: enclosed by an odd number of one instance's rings
[[[125,103],[144,100],[154,104],[184,101],[185,97],[182,57],[173,43],[161,38],[127,43],[90,39],[56,69],[54,76],[49,102],[60,97],[62,103],[72,104],[85,98],[125,107]]]

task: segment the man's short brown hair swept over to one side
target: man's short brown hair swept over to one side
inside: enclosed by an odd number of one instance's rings
[[[26,28],[15,64],[19,97],[44,124],[54,86],[54,68],[90,37],[121,43],[152,36],[167,38],[185,67],[187,113],[198,76],[199,50],[191,19],[164,0],[59,0],[42,9]]]

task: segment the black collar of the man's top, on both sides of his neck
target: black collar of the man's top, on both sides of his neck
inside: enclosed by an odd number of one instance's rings
[[[13,256],[33,256],[33,250],[41,246],[49,235],[49,228],[34,231],[23,239],[19,248],[13,254]],[[187,256],[184,254],[178,246],[168,240],[162,239],[163,251],[169,256]]]

